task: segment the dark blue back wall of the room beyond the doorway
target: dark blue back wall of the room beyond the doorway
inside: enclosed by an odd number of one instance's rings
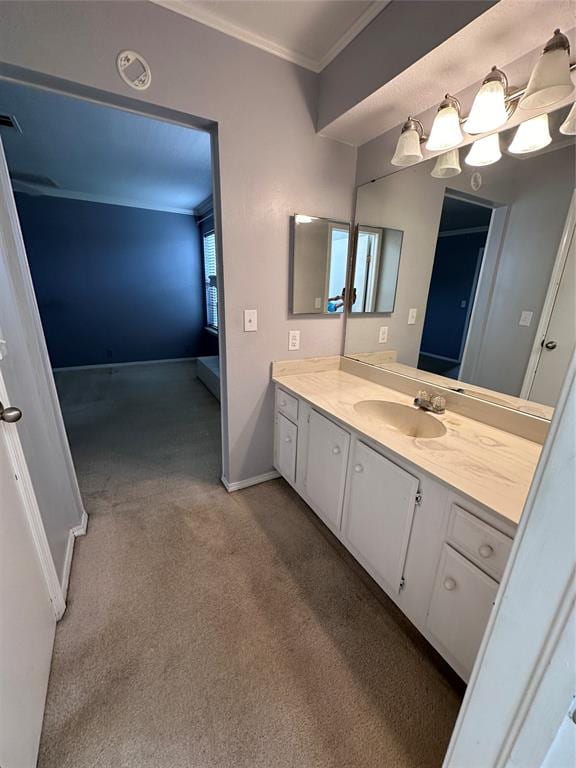
[[[54,367],[213,353],[192,216],[16,194]]]

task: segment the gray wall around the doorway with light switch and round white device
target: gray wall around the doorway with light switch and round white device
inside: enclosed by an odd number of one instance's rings
[[[152,84],[138,93],[115,69],[140,51]],[[355,150],[315,134],[311,72],[144,2],[4,2],[0,67],[13,65],[218,122],[229,382],[228,479],[272,468],[270,362],[340,351],[342,321],[289,320],[289,216],[350,218]],[[5,71],[6,68],[4,67]],[[0,69],[1,72],[1,69]],[[242,330],[243,308],[259,312]]]

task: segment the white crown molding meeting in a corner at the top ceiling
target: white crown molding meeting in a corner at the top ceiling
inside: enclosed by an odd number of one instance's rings
[[[283,45],[274,43],[255,32],[250,32],[243,27],[239,27],[230,21],[225,21],[202,6],[196,6],[183,2],[182,0],[151,0],[155,5],[160,5],[162,8],[166,8],[174,13],[179,13],[181,16],[187,16],[189,19],[193,19],[200,24],[204,24],[212,29],[217,29],[219,32],[223,32],[225,35],[235,37],[237,40],[242,40],[248,45],[253,45],[256,48],[260,48],[267,53],[271,53],[274,56],[278,56],[281,59],[290,61],[293,64],[298,64],[305,69],[311,69],[312,72],[322,72],[322,70],[330,64],[330,62],[336,58],[336,56],[354,40],[354,38],[365,29],[370,22],[378,16],[391,0],[373,0],[368,8],[362,13],[352,24],[349,29],[334,43],[334,45],[322,56],[320,59],[306,56],[305,54],[294,51],[290,48],[285,48]]]

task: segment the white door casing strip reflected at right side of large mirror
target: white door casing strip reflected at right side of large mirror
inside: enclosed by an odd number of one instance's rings
[[[560,238],[560,244],[558,245],[558,252],[556,253],[556,259],[554,261],[554,267],[552,268],[552,275],[550,276],[550,283],[548,285],[548,291],[546,292],[546,298],[540,314],[540,321],[538,322],[538,328],[534,336],[534,344],[532,345],[532,351],[526,367],[526,373],[524,374],[524,381],[522,383],[522,389],[520,390],[520,397],[524,400],[530,399],[530,391],[536,378],[536,371],[538,370],[538,363],[542,355],[542,342],[546,338],[548,331],[548,325],[554,311],[554,305],[556,304],[556,297],[558,295],[558,289],[560,287],[560,281],[562,280],[562,274],[564,273],[564,267],[566,266],[566,260],[568,259],[568,253],[570,246],[576,238],[576,190],[572,192],[570,199],[570,205],[568,207],[568,213],[566,214],[566,221],[564,222],[564,229],[562,231],[562,237]]]

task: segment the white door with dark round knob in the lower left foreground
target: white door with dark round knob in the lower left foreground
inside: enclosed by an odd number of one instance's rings
[[[0,393],[5,399],[0,373]],[[34,768],[56,616],[31,520],[18,425],[0,421],[0,765]]]

